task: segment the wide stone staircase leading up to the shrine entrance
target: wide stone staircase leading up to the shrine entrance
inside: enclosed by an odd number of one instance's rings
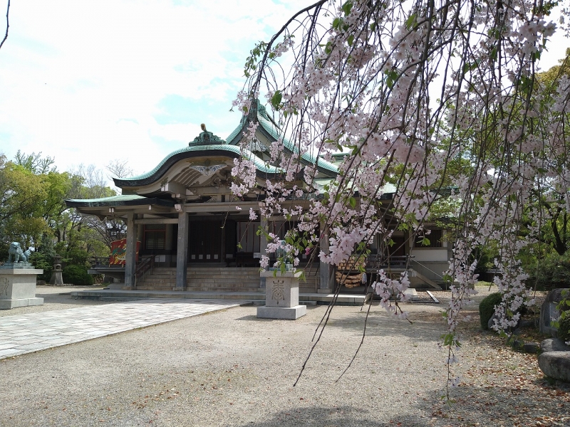
[[[315,292],[315,275],[299,283],[300,292]],[[155,268],[137,281],[137,290],[170,291],[175,288],[176,268]],[[186,270],[189,292],[261,292],[257,267],[189,267]]]

